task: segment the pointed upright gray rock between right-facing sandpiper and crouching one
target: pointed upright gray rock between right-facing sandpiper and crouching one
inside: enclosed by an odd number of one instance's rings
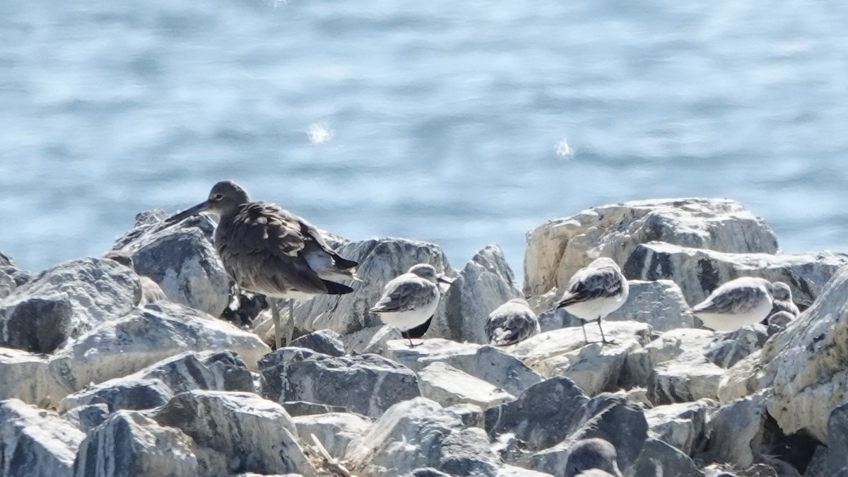
[[[521,298],[521,293],[504,252],[498,245],[488,245],[471,258],[450,285],[428,336],[488,343],[488,314],[513,298]]]

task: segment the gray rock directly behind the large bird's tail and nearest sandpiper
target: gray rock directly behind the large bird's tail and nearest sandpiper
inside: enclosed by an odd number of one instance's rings
[[[351,242],[337,250],[339,255],[359,262],[357,275],[348,295],[318,295],[299,302],[294,308],[297,328],[310,332],[332,329],[350,334],[382,324],[377,313],[368,311],[382,295],[382,288],[392,278],[406,272],[416,263],[429,263],[437,272],[453,275],[447,257],[438,245],[407,239],[379,239]]]

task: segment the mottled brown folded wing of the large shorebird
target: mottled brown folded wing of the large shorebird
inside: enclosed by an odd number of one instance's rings
[[[243,206],[232,221],[222,220],[215,232],[221,261],[243,289],[265,295],[352,291],[321,279],[310,267],[302,251],[314,240],[304,235],[298,216],[264,202]]]

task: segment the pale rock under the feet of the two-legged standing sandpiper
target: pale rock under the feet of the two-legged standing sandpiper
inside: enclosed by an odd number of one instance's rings
[[[506,351],[522,359],[543,376],[566,376],[589,396],[616,390],[629,354],[650,340],[650,326],[636,322],[603,323],[604,333],[613,345],[586,345],[580,328],[562,328],[537,334]],[[596,323],[588,323],[589,340],[600,340]]]

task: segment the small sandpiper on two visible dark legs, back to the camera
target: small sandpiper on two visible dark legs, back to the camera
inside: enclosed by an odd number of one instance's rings
[[[589,339],[586,337],[584,322],[595,320],[600,328],[601,342],[612,344],[612,341],[606,340],[600,320],[621,308],[628,300],[629,293],[630,285],[627,278],[622,275],[622,269],[618,267],[618,264],[611,258],[600,257],[594,259],[588,267],[574,273],[568,281],[566,295],[562,296],[556,307],[565,308],[566,311],[580,318],[583,340],[587,343]]]

